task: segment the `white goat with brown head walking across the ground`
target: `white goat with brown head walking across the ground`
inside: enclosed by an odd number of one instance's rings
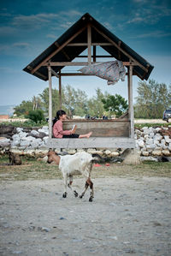
[[[64,182],[64,193],[62,194],[63,198],[67,197],[67,186],[73,191],[72,183],[73,176],[75,175],[83,175],[85,177],[85,190],[80,194],[80,199],[85,195],[85,191],[90,186],[91,188],[91,196],[89,201],[91,202],[94,197],[93,183],[91,182],[91,170],[92,163],[96,158],[92,158],[91,154],[87,152],[78,152],[74,155],[65,155],[58,156],[56,152],[50,151],[48,152],[48,160],[47,163],[55,162],[59,165],[59,170],[62,172],[63,182]],[[69,182],[68,182],[69,178]],[[74,190],[74,196],[78,197],[78,193]]]

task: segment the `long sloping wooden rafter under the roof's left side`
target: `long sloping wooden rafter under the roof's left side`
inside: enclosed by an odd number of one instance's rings
[[[52,52],[50,56],[46,57],[43,62],[39,63],[36,68],[33,68],[31,73],[33,74],[38,68],[44,65],[44,63],[48,62],[51,57],[54,57],[57,52],[61,51],[66,45],[68,45],[69,42],[71,42],[74,38],[76,38],[80,33],[82,33],[85,30],[85,27],[82,27],[77,33],[74,33],[74,35],[68,39],[63,45],[61,45],[56,51]]]

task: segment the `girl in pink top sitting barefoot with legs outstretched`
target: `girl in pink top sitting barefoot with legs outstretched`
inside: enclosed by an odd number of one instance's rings
[[[56,112],[56,117],[53,120],[53,135],[55,138],[90,138],[92,132],[88,134],[75,134],[76,126],[72,130],[63,131],[62,122],[66,120],[67,114],[64,110],[58,110]]]

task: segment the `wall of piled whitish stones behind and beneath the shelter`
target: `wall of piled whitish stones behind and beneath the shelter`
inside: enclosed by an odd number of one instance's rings
[[[13,152],[21,154],[41,154],[47,152],[48,127],[42,128],[15,128],[12,125],[0,126],[0,153],[11,148]],[[171,156],[171,127],[168,128],[141,128],[135,129],[136,147],[141,156]],[[67,150],[67,149],[66,149]],[[74,154],[75,149],[67,150]],[[80,152],[78,150],[77,152]],[[88,149],[90,153],[101,156],[118,157],[123,152],[121,149]]]

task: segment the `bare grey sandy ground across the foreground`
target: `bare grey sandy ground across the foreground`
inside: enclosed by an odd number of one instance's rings
[[[62,180],[1,182],[0,255],[170,255],[169,178],[93,182],[92,202],[62,199]]]

